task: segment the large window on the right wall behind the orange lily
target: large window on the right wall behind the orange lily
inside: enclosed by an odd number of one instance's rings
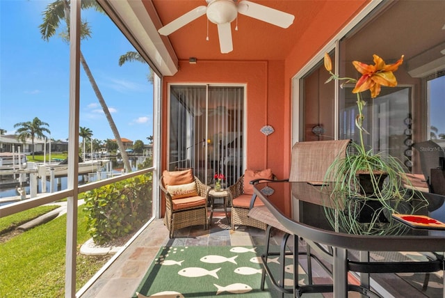
[[[373,64],[373,54],[377,54],[389,64],[404,55],[403,65],[395,72],[397,87],[383,87],[373,100],[368,91],[362,95],[366,101],[364,128],[369,132],[365,145],[375,152],[398,157],[408,170],[413,162],[419,169],[419,162],[412,161],[416,158],[411,150],[414,141],[445,139],[441,114],[445,109],[444,15],[443,1],[382,1],[369,15],[355,19],[355,27],[343,31],[330,47],[326,46],[328,51],[332,50],[330,56],[339,76],[355,79],[361,74],[353,61]],[[404,26],[399,25],[401,19]],[[324,84],[327,72],[322,64],[323,54],[317,54],[309,65],[317,64],[300,75],[298,140],[332,136],[358,141],[353,86],[339,88],[336,95],[334,84]],[[338,96],[337,104],[334,96]],[[334,124],[337,118],[338,123]],[[328,131],[329,123],[338,125],[338,133]],[[323,135],[312,132],[317,125],[323,127]]]

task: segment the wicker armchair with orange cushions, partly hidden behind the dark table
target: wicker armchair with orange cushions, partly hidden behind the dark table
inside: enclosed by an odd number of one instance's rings
[[[252,172],[251,170],[246,170],[245,173],[249,173],[249,171]],[[270,169],[253,172],[265,173],[264,177],[262,177],[265,179],[270,180],[275,178]],[[261,176],[261,174],[259,174],[259,176]],[[255,176],[255,178],[261,178],[259,176]],[[267,225],[264,222],[248,217],[250,203],[254,194],[250,191],[248,192],[248,194],[245,194],[245,189],[247,189],[248,186],[244,184],[244,178],[245,175],[242,175],[240,178],[238,178],[234,185],[231,185],[229,187],[229,191],[232,193],[232,230],[235,229],[235,226],[252,226],[255,228],[260,228],[261,230],[266,230]],[[254,206],[264,206],[264,203],[262,203],[260,200],[255,200]]]

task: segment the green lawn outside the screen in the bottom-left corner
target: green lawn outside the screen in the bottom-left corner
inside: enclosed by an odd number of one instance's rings
[[[79,208],[78,245],[90,238],[86,214]],[[66,214],[0,244],[0,297],[65,295]],[[111,258],[77,256],[76,290]]]

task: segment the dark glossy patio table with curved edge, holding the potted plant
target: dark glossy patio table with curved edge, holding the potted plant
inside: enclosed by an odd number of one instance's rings
[[[362,285],[359,292],[366,294],[369,290],[369,273],[444,270],[443,258],[426,262],[370,262],[369,251],[443,252],[445,251],[445,230],[416,229],[401,223],[403,233],[400,235],[341,233],[335,231],[325,217],[323,202],[327,202],[328,196],[321,186],[308,182],[262,182],[254,185],[254,192],[277,220],[293,232],[293,235],[296,236],[294,239],[302,237],[310,242],[332,247],[332,292],[334,297],[347,297],[348,289],[351,289],[351,285],[348,285],[349,271],[363,273],[365,278],[361,277]],[[435,212],[429,213],[432,218],[439,221],[443,221],[443,219],[437,218],[437,214],[445,214],[443,211],[438,212],[441,208],[445,210],[445,206],[442,204],[437,207],[436,202]],[[425,215],[428,215],[428,210],[425,212]],[[296,249],[298,246],[294,247],[294,250]],[[358,261],[350,260],[348,259],[348,250],[359,251],[363,257]],[[294,251],[293,256],[294,267],[298,267],[298,251]],[[307,292],[317,292],[312,285],[308,288]],[[354,288],[354,290],[357,289]],[[305,292],[304,287],[299,286],[298,279],[295,279],[295,296],[299,297],[302,292]],[[322,286],[320,292],[326,292],[326,289]]]

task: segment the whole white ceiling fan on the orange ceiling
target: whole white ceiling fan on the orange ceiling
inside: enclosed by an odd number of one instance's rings
[[[221,53],[232,52],[232,29],[230,23],[236,19],[238,13],[247,15],[254,19],[280,26],[284,29],[291,26],[295,18],[290,13],[276,10],[261,4],[247,0],[206,0],[207,6],[198,6],[193,8],[185,15],[181,15],[169,24],[166,24],[158,30],[159,34],[168,36],[180,29],[182,26],[194,21],[198,17],[207,14],[207,19],[213,24],[218,25],[218,37],[220,40]]]

